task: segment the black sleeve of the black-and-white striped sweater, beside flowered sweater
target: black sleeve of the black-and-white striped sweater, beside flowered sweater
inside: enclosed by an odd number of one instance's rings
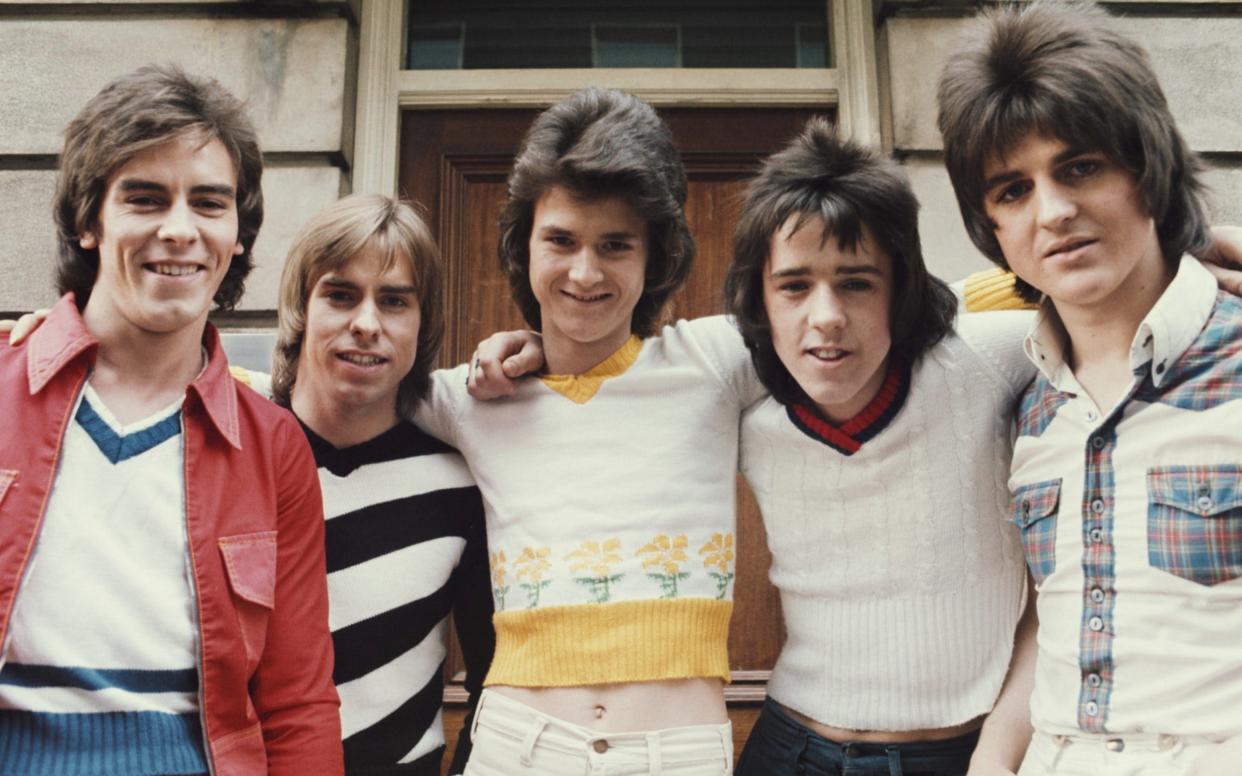
[[[483,523],[483,499],[477,488],[471,488],[463,499],[461,515],[469,526],[466,534],[466,550],[455,572],[453,623],[457,629],[457,643],[461,644],[466,662],[466,692],[469,693],[469,710],[457,735],[457,749],[453,752],[450,774],[462,774],[469,760],[469,731],[478,708],[478,695],[483,690],[483,679],[492,665],[496,652],[496,629],[492,626],[492,577],[487,556],[487,530]]]

